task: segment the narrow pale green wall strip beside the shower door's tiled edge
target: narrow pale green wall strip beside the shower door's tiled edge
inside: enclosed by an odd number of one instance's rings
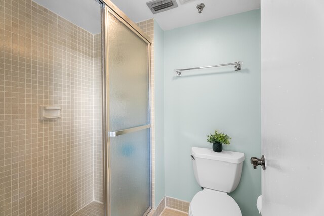
[[[165,196],[163,36],[163,30],[154,21],[155,208]]]

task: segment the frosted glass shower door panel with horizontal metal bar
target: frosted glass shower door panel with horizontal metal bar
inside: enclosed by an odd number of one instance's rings
[[[150,43],[117,14],[106,13],[108,215],[142,216],[151,208]]]

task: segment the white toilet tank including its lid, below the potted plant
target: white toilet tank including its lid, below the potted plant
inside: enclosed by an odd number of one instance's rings
[[[201,187],[230,193],[241,179],[244,153],[192,147],[193,171]]]

